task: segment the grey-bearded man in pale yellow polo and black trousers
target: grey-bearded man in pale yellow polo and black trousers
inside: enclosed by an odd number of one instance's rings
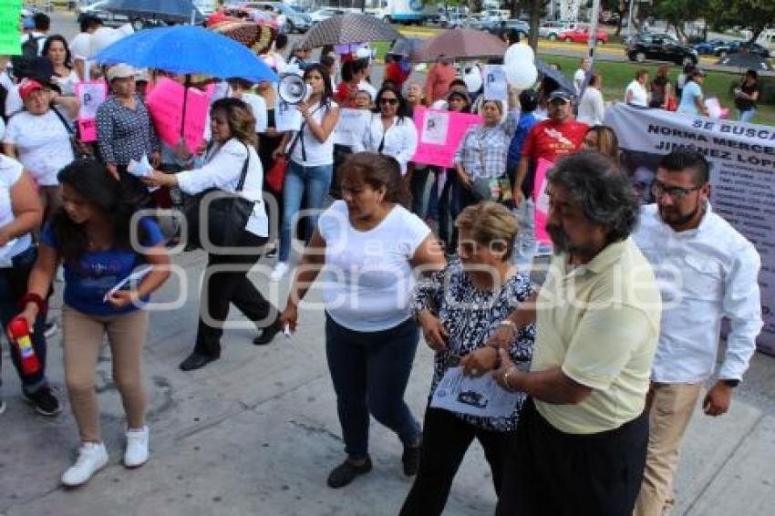
[[[646,464],[661,298],[629,239],[638,207],[613,162],[596,151],[563,158],[547,192],[556,254],[535,304],[511,315],[519,325],[534,310],[531,370],[501,350],[493,372],[532,398],[506,460],[498,514],[625,516]]]

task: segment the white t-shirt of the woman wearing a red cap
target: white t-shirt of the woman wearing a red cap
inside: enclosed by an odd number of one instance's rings
[[[70,135],[53,109],[39,116],[16,113],[8,120],[3,142],[15,145],[19,161],[39,186],[59,184],[57,173],[74,160]]]

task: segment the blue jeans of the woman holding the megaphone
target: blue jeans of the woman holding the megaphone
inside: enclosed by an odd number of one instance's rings
[[[291,255],[291,228],[295,225],[296,215],[302,206],[304,199],[307,210],[315,211],[306,218],[305,242],[309,242],[312,233],[317,227],[317,218],[323,208],[325,194],[331,186],[331,176],[334,173],[333,165],[321,165],[320,167],[305,167],[295,161],[288,163],[285,172],[283,186],[283,226],[280,228],[280,262],[287,262]]]

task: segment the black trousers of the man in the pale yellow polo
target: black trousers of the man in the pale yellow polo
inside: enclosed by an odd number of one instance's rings
[[[497,516],[630,516],[643,480],[648,418],[597,434],[554,428],[529,399],[503,469]]]

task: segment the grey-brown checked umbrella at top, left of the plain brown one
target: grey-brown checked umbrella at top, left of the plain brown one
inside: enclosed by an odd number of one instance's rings
[[[372,15],[336,15],[315,24],[306,34],[308,46],[395,41],[401,35]]]

